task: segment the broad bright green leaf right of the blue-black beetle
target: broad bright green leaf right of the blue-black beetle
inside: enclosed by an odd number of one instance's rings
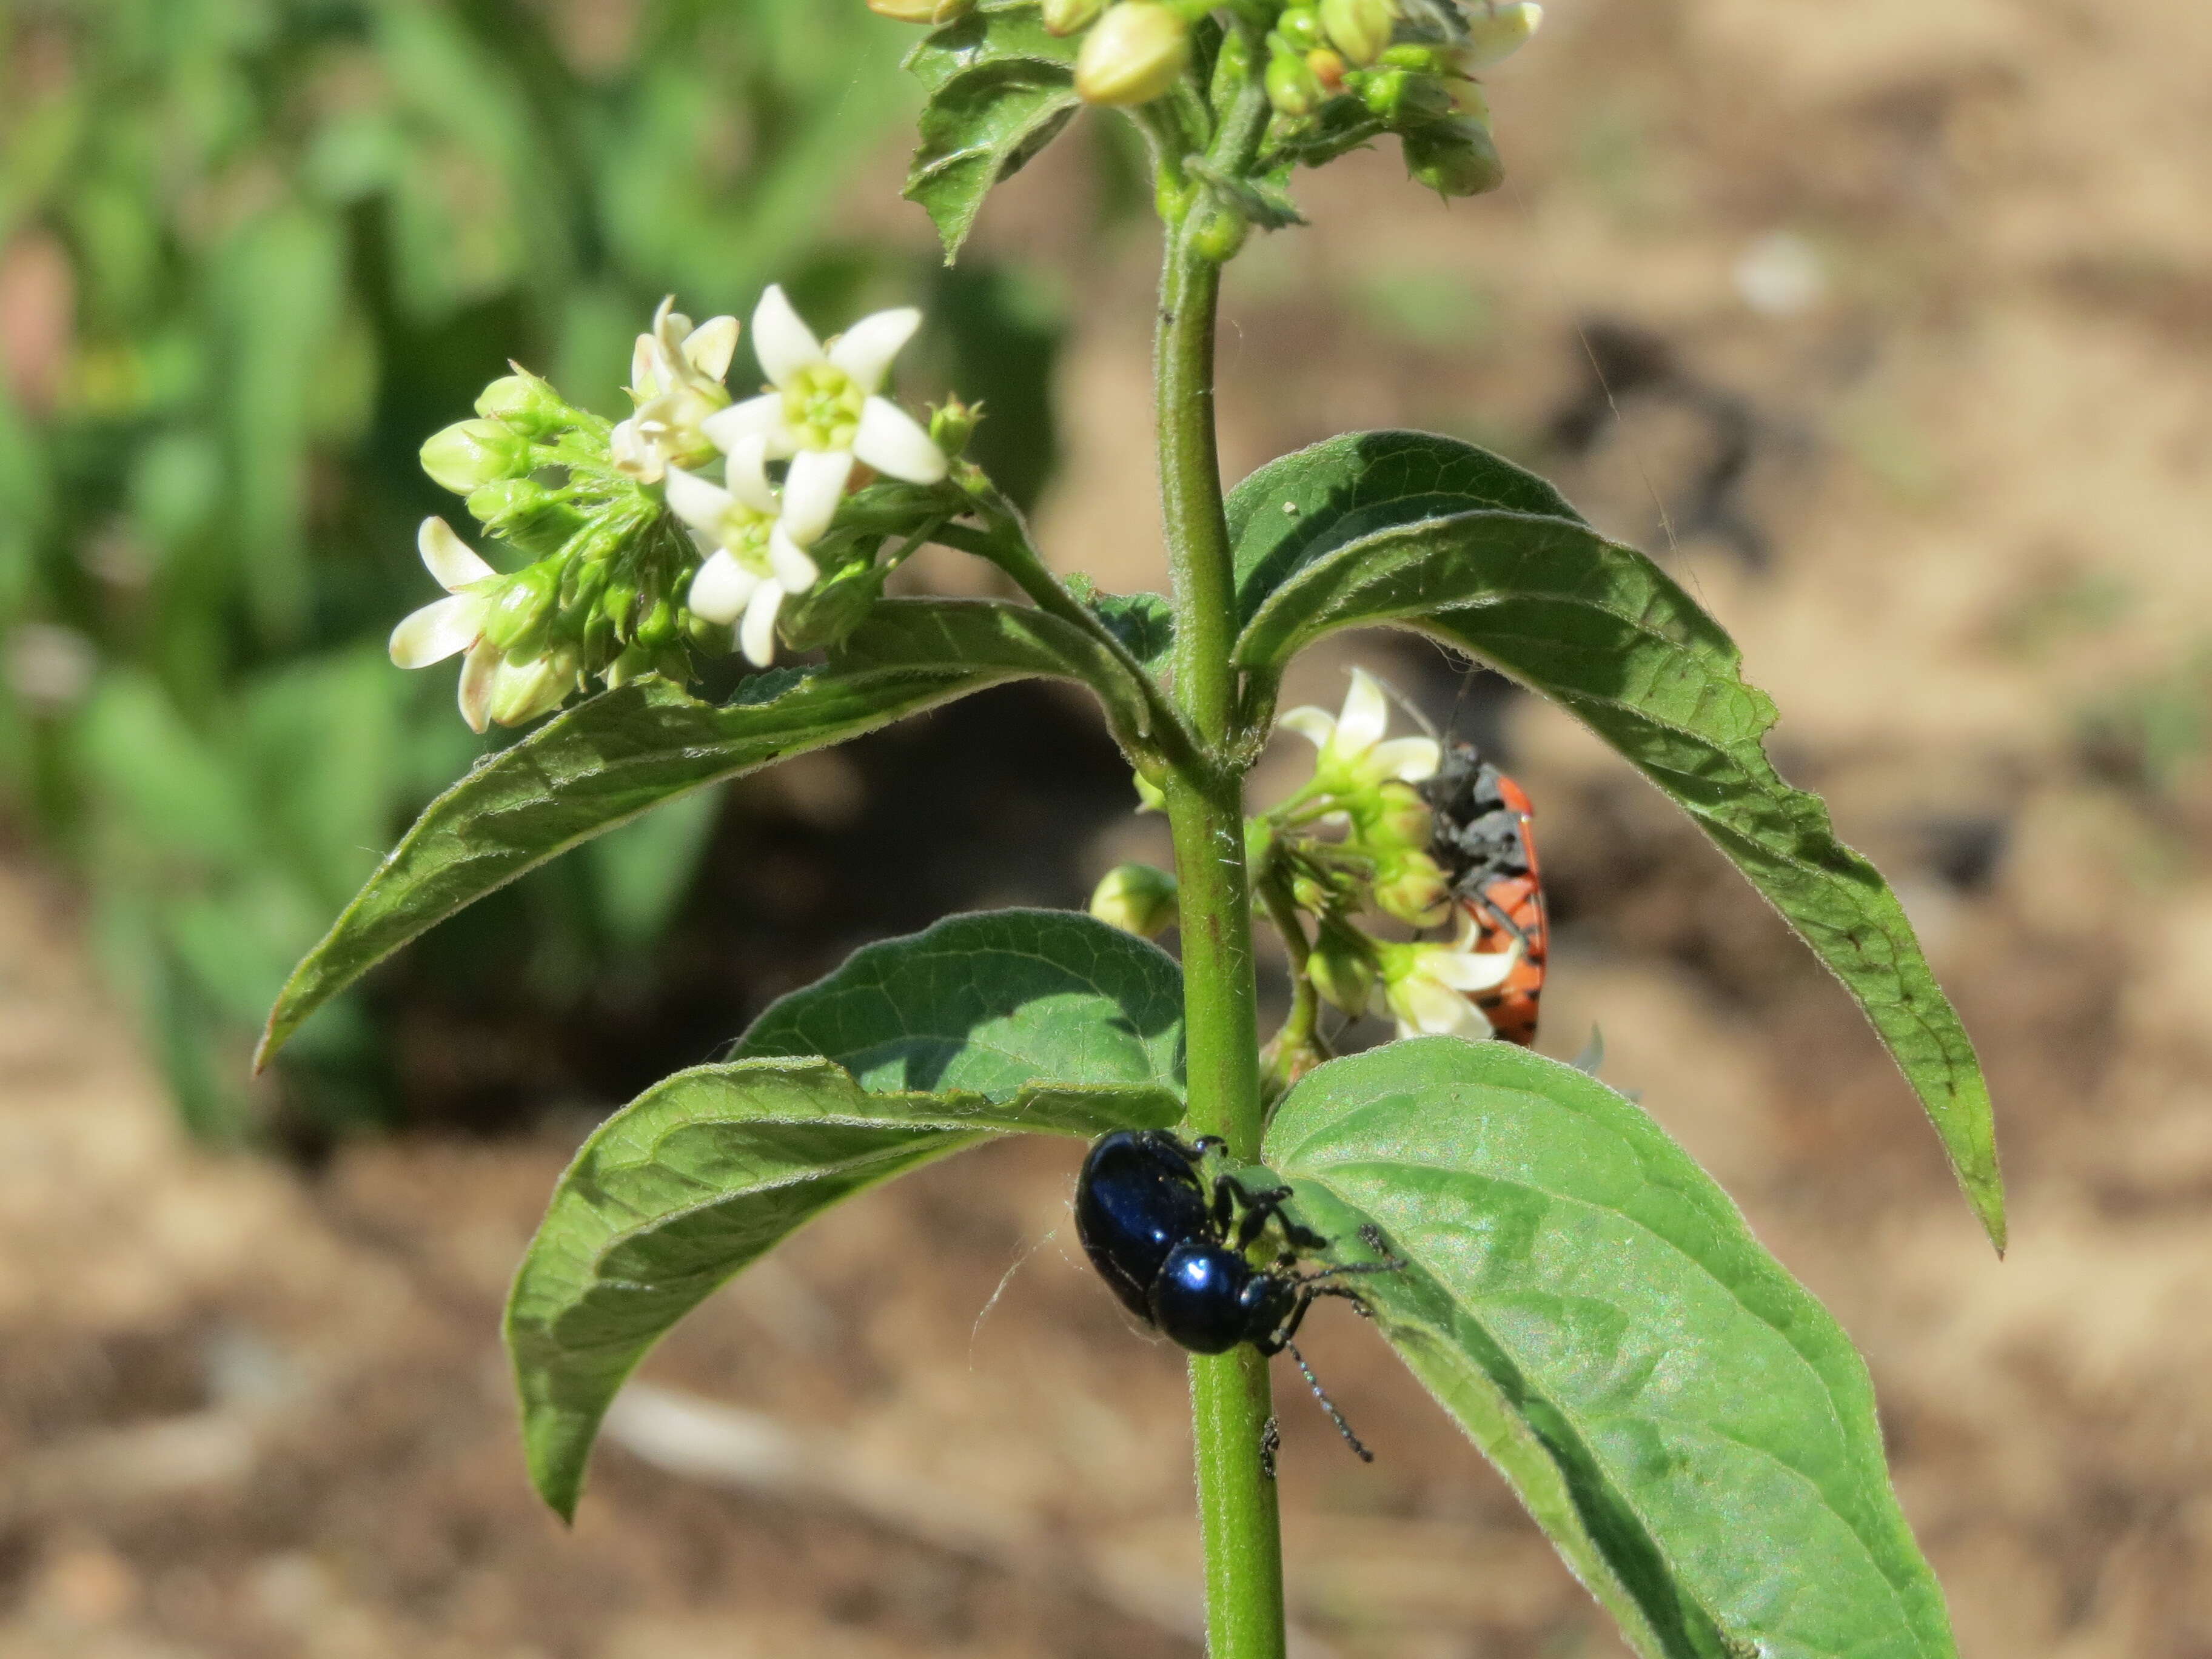
[[[1310,1073],[1267,1164],[1648,1659],[1949,1659],[1834,1318],[1635,1104],[1502,1042]]]

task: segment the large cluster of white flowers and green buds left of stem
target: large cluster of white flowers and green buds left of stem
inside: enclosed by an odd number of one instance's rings
[[[739,321],[692,325],[661,301],[630,354],[635,411],[615,425],[520,367],[493,380],[473,420],[422,445],[422,469],[531,562],[502,575],[425,520],[418,549],[447,597],[394,628],[392,659],[462,657],[460,712],[478,732],[538,719],[593,679],[690,681],[695,653],[737,648],[765,668],[787,602],[823,580],[860,469],[925,487],[947,476],[929,431],[883,396],[918,325],[916,310],[876,312],[825,347],[770,288],[752,319],[770,383],[734,403]],[[841,538],[838,575],[867,575],[880,542]],[[841,617],[847,595],[876,591],[836,586]]]

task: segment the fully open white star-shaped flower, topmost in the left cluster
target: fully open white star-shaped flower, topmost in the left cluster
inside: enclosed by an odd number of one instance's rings
[[[945,478],[947,460],[922,425],[880,396],[891,358],[914,338],[922,314],[911,305],[863,316],[827,349],[799,321],[781,288],[752,312],[752,349],[770,389],[706,420],[706,436],[734,456],[759,438],[770,460],[790,460],[783,478],[783,529],[812,546],[830,529],[854,460],[909,484]]]

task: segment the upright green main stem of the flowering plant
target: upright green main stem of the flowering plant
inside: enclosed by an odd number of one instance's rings
[[[1159,487],[1175,575],[1175,692],[1203,768],[1168,776],[1181,880],[1183,1022],[1190,1126],[1254,1161],[1261,1137],[1252,891],[1245,878],[1243,779],[1234,745],[1237,582],[1214,453],[1214,310],[1221,268],[1170,221],[1159,292],[1155,387]],[[1283,1657],[1283,1542],[1274,1480],[1261,1464],[1267,1360],[1250,1343],[1190,1358],[1199,1535],[1206,1544],[1206,1650],[1212,1659]]]

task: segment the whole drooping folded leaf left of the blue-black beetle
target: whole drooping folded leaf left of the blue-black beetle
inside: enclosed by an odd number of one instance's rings
[[[838,1199],[991,1135],[1172,1126],[1181,1033],[1159,949],[1066,911],[956,916],[644,1093],[562,1177],[507,1307],[538,1491],[573,1515],[646,1349]]]

